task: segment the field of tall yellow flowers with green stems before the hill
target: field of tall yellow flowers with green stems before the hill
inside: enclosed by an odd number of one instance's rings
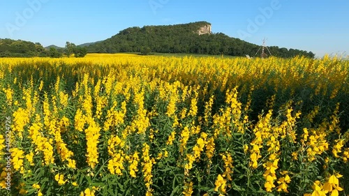
[[[0,59],[0,195],[347,195],[349,62]]]

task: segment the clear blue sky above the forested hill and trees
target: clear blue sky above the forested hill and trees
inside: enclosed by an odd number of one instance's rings
[[[127,27],[207,21],[260,45],[349,54],[348,0],[0,0],[0,38],[64,47]]]

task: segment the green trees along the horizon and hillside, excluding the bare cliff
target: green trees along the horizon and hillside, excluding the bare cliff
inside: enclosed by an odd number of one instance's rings
[[[107,40],[91,45],[77,46],[66,42],[65,48],[44,48],[40,43],[31,43],[24,40],[0,39],[0,57],[31,57],[61,56],[83,57],[89,53],[117,53],[117,52],[149,52],[211,54],[230,56],[255,56],[260,45],[248,43],[239,38],[230,38],[224,33],[198,34],[198,29],[209,22],[192,22],[188,24],[131,27]],[[306,56],[314,58],[313,52],[287,49],[285,47],[268,47],[273,56],[290,58]]]

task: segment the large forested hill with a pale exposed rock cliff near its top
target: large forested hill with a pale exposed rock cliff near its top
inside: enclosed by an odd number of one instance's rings
[[[212,33],[209,22],[188,24],[130,27],[115,36],[98,43],[87,45],[88,52],[117,53],[141,52],[148,48],[151,52],[186,54],[225,54],[231,56],[254,56],[259,45],[239,38],[231,38],[224,33]],[[313,58],[313,52],[304,50],[269,47],[273,56],[292,57],[302,55]]]

